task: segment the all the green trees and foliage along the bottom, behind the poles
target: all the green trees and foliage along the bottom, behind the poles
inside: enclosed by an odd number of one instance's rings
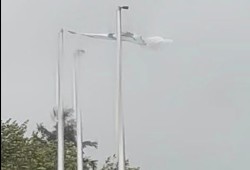
[[[71,110],[65,110],[65,170],[76,169],[75,121],[71,118]],[[28,121],[18,124],[11,119],[1,121],[1,170],[55,170],[57,164],[57,126],[52,131],[42,124],[37,125],[30,137],[27,137]],[[84,141],[83,149],[93,147],[97,143]],[[84,154],[84,152],[83,152]],[[97,160],[86,156],[83,158],[84,170],[96,170]],[[127,170],[130,168],[126,162]],[[107,158],[101,170],[116,170],[115,155]]]

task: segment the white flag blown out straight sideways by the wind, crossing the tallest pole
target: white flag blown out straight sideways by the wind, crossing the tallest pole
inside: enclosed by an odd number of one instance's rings
[[[97,39],[106,39],[106,40],[116,40],[116,34],[115,33],[107,33],[107,34],[94,34],[94,33],[76,33],[73,31],[68,31],[71,34],[78,34],[83,35],[91,38],[97,38]],[[165,39],[163,37],[159,36],[153,36],[153,37],[147,37],[143,38],[141,35],[133,34],[131,32],[123,32],[121,34],[122,41],[128,41],[134,44],[142,45],[142,46],[157,46],[159,44],[163,43],[172,43],[173,40],[171,39]]]

